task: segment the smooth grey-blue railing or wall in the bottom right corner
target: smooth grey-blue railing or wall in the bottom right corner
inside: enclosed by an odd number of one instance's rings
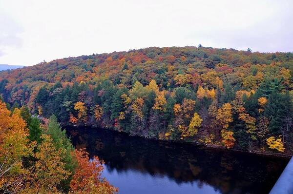
[[[270,194],[293,194],[293,157],[273,186]]]

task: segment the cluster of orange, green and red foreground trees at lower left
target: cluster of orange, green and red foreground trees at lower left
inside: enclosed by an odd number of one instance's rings
[[[16,108],[12,113],[0,101],[1,193],[118,192],[105,178],[101,178],[103,166],[98,157],[94,156],[89,161],[84,150],[73,151],[55,116],[40,126],[40,121],[26,110],[24,107],[21,110]]]

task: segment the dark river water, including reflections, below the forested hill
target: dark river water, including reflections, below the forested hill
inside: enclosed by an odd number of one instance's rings
[[[267,194],[289,159],[67,128],[76,148],[105,161],[120,194]]]

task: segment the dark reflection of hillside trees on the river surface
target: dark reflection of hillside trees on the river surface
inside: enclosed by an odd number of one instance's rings
[[[167,175],[177,184],[207,183],[222,193],[268,193],[288,160],[146,140],[103,129],[68,130],[77,148],[105,160],[107,169]]]

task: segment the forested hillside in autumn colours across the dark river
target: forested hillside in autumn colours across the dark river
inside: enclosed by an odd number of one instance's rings
[[[7,106],[147,138],[293,151],[293,53],[166,47],[0,73]]]

